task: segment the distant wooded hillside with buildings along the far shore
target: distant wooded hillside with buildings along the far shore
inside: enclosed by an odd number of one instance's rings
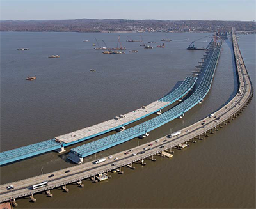
[[[0,22],[0,31],[230,31],[255,30],[255,22],[203,21],[203,20],[123,20],[123,19],[75,19],[75,20],[29,20]]]

